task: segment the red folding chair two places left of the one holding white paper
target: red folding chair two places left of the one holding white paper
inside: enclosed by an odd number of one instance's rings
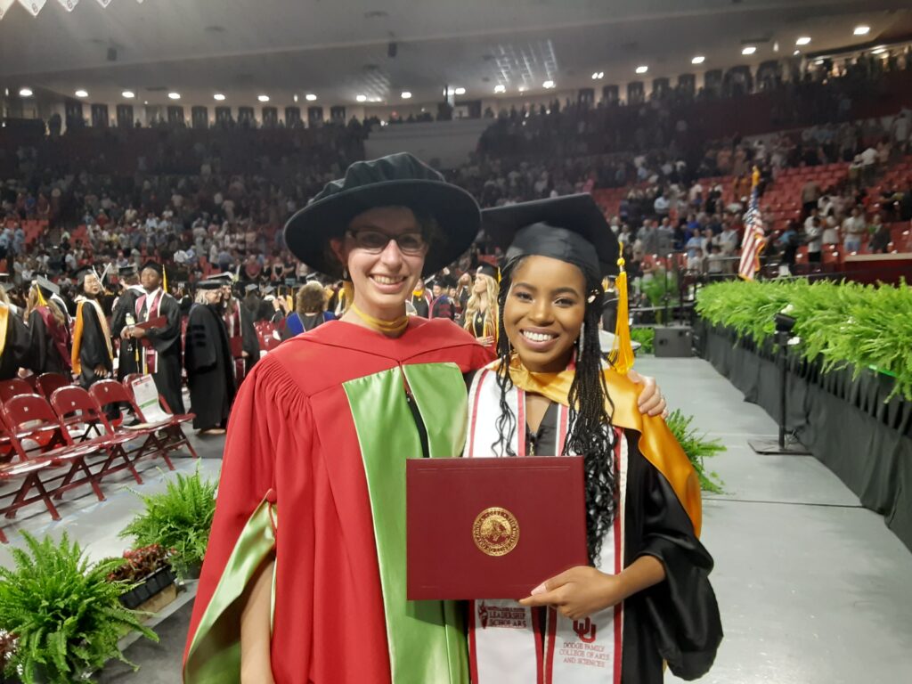
[[[66,431],[47,399],[36,394],[23,394],[4,402],[0,415],[7,427],[6,437],[19,462],[47,462],[53,468],[68,466],[63,479],[51,489],[55,499],[82,484],[91,486],[98,501],[105,495],[98,487],[98,477],[88,469],[86,457],[98,453],[96,444],[67,444]],[[34,446],[33,446],[34,445]],[[78,477],[78,475],[82,477]],[[47,485],[47,481],[44,482]],[[6,513],[13,517],[16,510]]]

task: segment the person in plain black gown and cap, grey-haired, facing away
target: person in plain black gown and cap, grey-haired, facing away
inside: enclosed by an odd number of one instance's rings
[[[221,434],[234,400],[234,364],[222,316],[222,286],[197,285],[187,319],[183,366],[187,370],[193,427],[202,434]]]

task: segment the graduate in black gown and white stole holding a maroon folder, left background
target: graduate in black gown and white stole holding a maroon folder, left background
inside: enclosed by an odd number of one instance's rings
[[[140,283],[143,292],[136,299],[137,323],[163,319],[148,328],[130,326],[127,335],[140,347],[140,372],[150,373],[159,395],[171,413],[183,413],[181,394],[181,306],[166,291],[166,274],[161,264],[142,264]],[[163,286],[164,285],[164,286]]]

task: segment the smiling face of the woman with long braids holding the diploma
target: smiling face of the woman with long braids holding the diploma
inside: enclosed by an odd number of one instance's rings
[[[564,370],[585,316],[586,278],[575,265],[548,256],[528,256],[513,271],[503,306],[503,326],[529,370]]]

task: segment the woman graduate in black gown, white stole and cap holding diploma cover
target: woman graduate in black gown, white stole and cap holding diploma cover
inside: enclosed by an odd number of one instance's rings
[[[722,639],[700,481],[664,420],[636,408],[626,317],[617,353],[602,359],[617,240],[588,194],[485,210],[482,223],[509,247],[499,358],[472,380],[463,455],[582,455],[589,565],[542,577],[518,603],[470,602],[473,681],[661,684],[665,663],[699,679]],[[618,281],[623,294],[626,274]],[[492,610],[513,624],[486,624]],[[584,657],[552,655],[567,642]]]

